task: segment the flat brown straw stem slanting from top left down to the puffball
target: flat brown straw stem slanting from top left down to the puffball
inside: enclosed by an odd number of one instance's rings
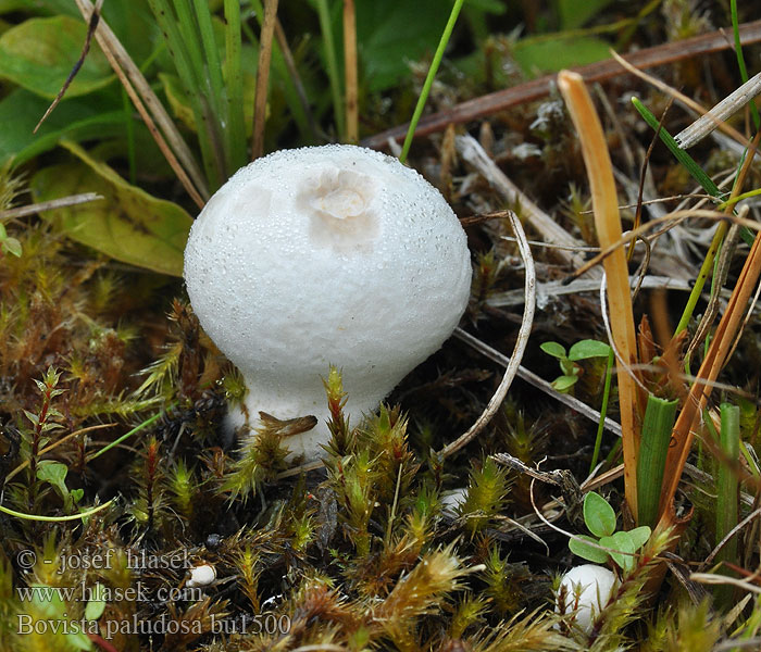
[[[90,2],[90,0],[76,0],[76,3],[85,20],[89,21],[95,11],[92,2]],[[111,30],[111,27],[109,27],[102,18],[98,22],[95,35],[100,49],[103,51],[103,54],[105,54],[118,80],[122,83],[122,86],[124,86],[129,99],[146,123],[161,153],[164,154],[164,158],[172,166],[172,170],[174,170],[177,178],[198,208],[203,208],[205,200],[209,199],[209,188],[203,180],[201,171],[190,149],[179,135],[177,127],[166,113],[163,104],[151,89],[150,84],[148,84],[142,76],[140,68],[135,65],[135,62],[124,49],[124,46],[122,46]],[[149,110],[150,114],[148,112]],[[154,120],[155,122],[153,122]],[[159,130],[159,127],[157,127],[157,123],[163,130],[163,134]],[[190,178],[192,178],[192,181]]]

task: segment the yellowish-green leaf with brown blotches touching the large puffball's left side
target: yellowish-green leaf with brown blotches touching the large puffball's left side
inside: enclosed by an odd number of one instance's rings
[[[43,217],[58,220],[70,238],[118,261],[182,276],[190,215],[171,201],[130,186],[80,147],[71,142],[65,147],[79,161],[37,173],[30,184],[35,199],[48,201],[78,192],[98,192],[105,199],[49,211]]]

